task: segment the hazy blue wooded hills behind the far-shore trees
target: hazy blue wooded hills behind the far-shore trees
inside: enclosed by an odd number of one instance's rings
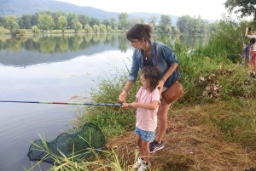
[[[55,0],[0,0],[0,16],[15,15],[21,16],[22,14],[35,14],[42,10],[51,11],[63,11],[65,13],[74,12],[77,14],[87,14],[90,17],[97,18],[99,20],[115,18],[118,19],[120,13],[108,12],[102,9],[95,9],[89,6],[80,7],[71,3],[65,3]],[[132,18],[143,18],[146,22],[151,16],[156,16],[156,22],[160,21],[161,14],[158,13],[131,13],[129,19]],[[176,25],[178,16],[170,15],[172,19],[172,26]],[[214,20],[208,20],[210,23]]]

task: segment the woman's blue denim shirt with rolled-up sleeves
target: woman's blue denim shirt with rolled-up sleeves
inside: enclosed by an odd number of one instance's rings
[[[172,48],[169,48],[166,44],[151,41],[151,58],[154,67],[157,67],[155,61],[155,43],[157,49],[157,57],[159,60],[160,77],[163,77],[170,66],[177,65],[177,56],[175,53],[172,52]],[[134,50],[132,57],[131,73],[128,77],[128,81],[136,82],[139,69],[143,69],[143,54],[140,49]],[[172,83],[174,83],[179,77],[181,77],[180,73],[177,70],[173,71],[172,75],[167,78],[164,86],[167,88],[170,87]]]

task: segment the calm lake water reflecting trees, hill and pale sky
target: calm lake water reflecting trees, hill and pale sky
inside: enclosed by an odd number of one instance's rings
[[[189,47],[208,41],[202,36],[170,38]],[[90,88],[97,88],[104,73],[131,66],[132,53],[124,34],[0,35],[0,100],[79,101],[90,97]],[[31,142],[39,135],[50,141],[67,132],[80,107],[0,102],[0,171],[31,168],[26,157]],[[48,163],[40,166],[42,170],[50,167]]]

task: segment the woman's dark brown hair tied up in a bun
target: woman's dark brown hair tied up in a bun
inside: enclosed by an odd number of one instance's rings
[[[145,41],[149,41],[151,38],[152,28],[149,25],[136,24],[126,32],[126,38],[131,41],[131,39],[142,40],[145,38]]]

